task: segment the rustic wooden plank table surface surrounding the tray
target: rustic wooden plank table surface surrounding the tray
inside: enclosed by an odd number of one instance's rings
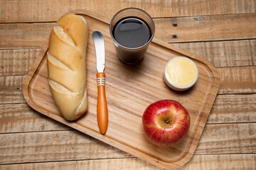
[[[256,1],[0,1],[0,169],[161,169],[41,115],[23,80],[63,13],[147,11],[156,35],[218,69],[220,90],[180,169],[256,169]]]

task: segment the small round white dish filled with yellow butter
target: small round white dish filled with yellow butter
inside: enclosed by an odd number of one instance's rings
[[[187,57],[174,57],[164,69],[164,81],[176,91],[185,91],[196,84],[198,68]]]

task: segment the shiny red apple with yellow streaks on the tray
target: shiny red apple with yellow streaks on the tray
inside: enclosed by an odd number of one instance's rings
[[[180,142],[190,125],[186,108],[173,100],[151,103],[142,116],[146,137],[154,145],[171,147]]]

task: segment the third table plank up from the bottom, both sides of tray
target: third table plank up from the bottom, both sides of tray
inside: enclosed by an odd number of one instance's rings
[[[218,95],[208,117],[213,123],[255,123],[256,94]],[[0,105],[0,133],[71,130],[26,103]]]

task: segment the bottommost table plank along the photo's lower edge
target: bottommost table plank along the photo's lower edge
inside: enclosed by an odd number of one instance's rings
[[[220,155],[194,155],[190,162],[181,166],[179,169],[212,169],[212,170],[254,170],[256,169],[256,154],[220,154]],[[76,160],[68,162],[43,162],[28,164],[6,164],[0,165],[0,169],[102,169],[102,170],[149,170],[158,169],[148,162],[137,158],[123,159],[95,159],[95,160]],[[164,169],[163,169],[164,170]],[[178,170],[178,169],[177,169]]]

